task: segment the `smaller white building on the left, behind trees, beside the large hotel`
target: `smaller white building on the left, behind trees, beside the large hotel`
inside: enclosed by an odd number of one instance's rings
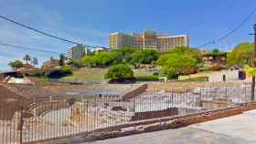
[[[84,57],[87,54],[87,48],[85,46],[81,45],[75,45],[69,48],[67,57],[68,59],[73,58],[81,58]]]

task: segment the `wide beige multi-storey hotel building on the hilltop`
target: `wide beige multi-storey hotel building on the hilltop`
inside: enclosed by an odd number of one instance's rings
[[[127,35],[112,33],[110,36],[110,48],[117,49],[123,46],[131,46],[136,49],[155,49],[166,52],[176,46],[189,46],[189,37],[157,35],[155,31],[146,30],[143,34]]]

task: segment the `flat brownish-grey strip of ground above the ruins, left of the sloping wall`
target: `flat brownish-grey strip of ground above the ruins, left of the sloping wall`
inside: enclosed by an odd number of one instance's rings
[[[12,91],[27,98],[49,98],[49,97],[69,97],[72,96],[94,96],[94,95],[123,95],[137,87],[135,85],[110,85],[110,84],[91,84],[91,85],[6,85]]]

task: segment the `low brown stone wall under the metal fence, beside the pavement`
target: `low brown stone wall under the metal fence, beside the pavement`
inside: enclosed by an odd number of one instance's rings
[[[184,117],[176,118],[159,118],[150,121],[142,121],[139,123],[133,123],[128,125],[116,126],[108,129],[98,129],[91,133],[82,133],[77,136],[66,137],[62,139],[48,139],[37,143],[47,144],[51,143],[64,144],[64,143],[81,143],[85,141],[94,141],[102,139],[112,139],[117,137],[124,137],[133,134],[139,134],[144,132],[152,132],[164,129],[178,129],[186,127],[188,125],[206,122],[218,118],[227,118],[242,114],[244,111],[256,109],[256,103],[249,103],[243,106],[234,108],[222,108],[218,110],[211,110],[192,114]],[[111,132],[107,132],[110,131]],[[103,131],[103,132],[101,132]],[[28,143],[27,143],[28,144]],[[32,144],[32,143],[29,143]],[[36,144],[36,143],[35,143]]]

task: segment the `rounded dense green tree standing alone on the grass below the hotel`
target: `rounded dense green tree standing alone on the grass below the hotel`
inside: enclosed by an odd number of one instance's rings
[[[133,78],[133,69],[127,64],[112,66],[105,74],[105,79]]]

